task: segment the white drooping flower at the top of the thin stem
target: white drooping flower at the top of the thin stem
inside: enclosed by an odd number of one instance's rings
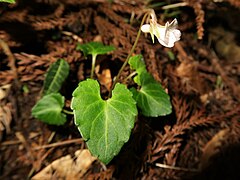
[[[142,25],[141,30],[151,34],[153,43],[155,35],[160,44],[166,47],[173,47],[174,43],[179,41],[181,36],[181,32],[176,29],[178,25],[177,19],[174,19],[171,23],[167,22],[165,26],[161,26],[157,23],[155,13],[153,12],[150,15],[149,24]]]

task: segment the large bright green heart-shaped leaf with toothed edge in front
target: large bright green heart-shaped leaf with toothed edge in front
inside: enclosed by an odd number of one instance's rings
[[[112,97],[103,100],[99,83],[87,79],[73,92],[71,108],[90,152],[103,163],[109,163],[129,140],[134,126],[137,108],[132,93],[118,83]]]

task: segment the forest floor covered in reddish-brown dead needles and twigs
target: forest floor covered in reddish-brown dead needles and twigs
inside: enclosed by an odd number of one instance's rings
[[[116,76],[147,8],[160,24],[177,18],[182,32],[171,49],[141,34],[135,50],[173,112],[139,115],[129,142],[105,166],[86,150],[72,116],[50,126],[31,108],[49,65],[64,58],[70,74],[61,93],[70,110],[91,66],[78,43],[116,47],[97,60],[105,93],[104,72]],[[0,3],[0,14],[0,179],[240,179],[239,0],[17,0]],[[122,77],[129,73],[126,67]]]

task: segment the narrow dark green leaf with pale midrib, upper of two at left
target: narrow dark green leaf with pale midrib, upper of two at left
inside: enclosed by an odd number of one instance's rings
[[[46,75],[43,84],[43,94],[58,92],[61,89],[62,83],[69,74],[69,64],[64,59],[59,59],[53,63]]]

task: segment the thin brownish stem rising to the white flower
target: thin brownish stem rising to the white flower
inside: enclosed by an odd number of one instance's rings
[[[131,51],[129,52],[129,54],[128,54],[128,56],[127,56],[127,59],[126,59],[125,62],[123,63],[123,65],[122,65],[121,69],[119,70],[119,72],[118,72],[115,80],[113,81],[113,85],[112,85],[112,87],[111,87],[111,89],[110,89],[110,91],[109,91],[108,97],[111,97],[111,96],[112,96],[112,90],[114,89],[115,85],[116,85],[117,82],[119,81],[119,77],[120,77],[123,69],[124,69],[125,66],[128,64],[128,61],[129,61],[130,57],[132,56],[133,51],[135,50],[135,48],[136,48],[136,46],[137,46],[139,37],[140,37],[140,35],[141,35],[141,27],[142,27],[142,25],[143,25],[143,23],[144,23],[144,21],[145,21],[145,19],[146,19],[146,17],[147,17],[148,15],[149,15],[149,13],[147,12],[147,13],[145,13],[145,15],[144,15],[143,18],[142,18],[142,22],[141,22],[140,28],[139,28],[139,30],[138,30],[136,40],[135,40],[135,42],[134,42],[134,44],[133,44],[133,46],[132,46]]]

